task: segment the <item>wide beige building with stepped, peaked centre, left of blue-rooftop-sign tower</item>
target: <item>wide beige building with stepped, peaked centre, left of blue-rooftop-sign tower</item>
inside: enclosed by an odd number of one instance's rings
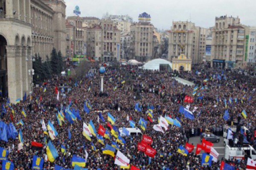
[[[120,33],[109,19],[87,28],[87,55],[98,61],[119,61]]]

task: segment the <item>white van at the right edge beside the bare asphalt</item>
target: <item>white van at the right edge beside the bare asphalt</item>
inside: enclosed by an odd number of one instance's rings
[[[247,147],[230,147],[230,145],[226,144],[225,146],[225,159],[237,159],[244,160],[247,158],[256,159],[256,151],[252,146]]]

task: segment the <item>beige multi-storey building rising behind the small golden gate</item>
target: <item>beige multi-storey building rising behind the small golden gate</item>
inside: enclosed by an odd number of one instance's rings
[[[184,53],[192,59],[192,64],[202,63],[207,34],[209,29],[195,26],[195,23],[172,22],[172,28],[169,31],[168,60],[172,61],[172,58]],[[181,47],[184,51],[181,51]]]

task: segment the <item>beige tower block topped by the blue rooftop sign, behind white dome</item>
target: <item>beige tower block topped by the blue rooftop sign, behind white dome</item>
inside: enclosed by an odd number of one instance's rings
[[[153,59],[153,36],[154,26],[150,22],[139,21],[131,25],[131,59],[141,62]]]

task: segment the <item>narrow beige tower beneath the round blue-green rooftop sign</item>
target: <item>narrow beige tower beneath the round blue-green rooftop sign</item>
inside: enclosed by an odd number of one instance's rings
[[[83,18],[79,16],[67,17],[67,22],[66,26],[68,25],[69,31],[66,33],[66,40],[68,39],[66,51],[69,51],[70,57],[86,55],[86,29],[82,26]],[[73,29],[73,32],[70,29]]]

